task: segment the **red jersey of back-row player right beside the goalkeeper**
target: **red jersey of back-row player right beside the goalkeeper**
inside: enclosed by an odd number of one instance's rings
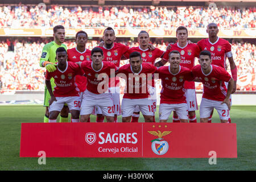
[[[89,49],[85,49],[84,52],[79,52],[76,47],[68,49],[68,61],[72,61],[73,63],[79,61],[91,61],[90,52]],[[80,92],[84,92],[86,89],[86,77],[77,75],[76,84]]]

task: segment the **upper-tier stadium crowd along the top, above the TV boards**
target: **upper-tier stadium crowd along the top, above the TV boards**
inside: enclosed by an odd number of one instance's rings
[[[255,28],[256,8],[0,6],[0,27],[207,27]]]

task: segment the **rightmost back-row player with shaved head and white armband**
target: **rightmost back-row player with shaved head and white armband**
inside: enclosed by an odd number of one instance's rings
[[[216,23],[208,24],[207,33],[209,35],[209,38],[200,40],[199,42],[197,42],[197,45],[200,47],[201,51],[208,50],[211,52],[212,64],[218,65],[219,67],[222,67],[224,69],[226,69],[226,57],[228,57],[232,78],[235,82],[234,88],[232,89],[232,93],[234,93],[236,92],[237,88],[237,67],[234,63],[234,59],[232,56],[231,45],[227,40],[221,39],[217,36],[218,26]],[[230,101],[232,104],[231,96]],[[212,114],[210,115],[209,122],[212,122],[211,118]],[[230,119],[229,122],[231,122]]]

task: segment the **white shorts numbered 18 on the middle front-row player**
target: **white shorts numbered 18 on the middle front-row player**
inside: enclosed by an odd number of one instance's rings
[[[121,106],[122,117],[131,116],[137,105],[143,115],[154,115],[154,105],[152,104],[152,100],[149,100],[148,98],[141,98],[141,99],[123,98],[122,106]]]

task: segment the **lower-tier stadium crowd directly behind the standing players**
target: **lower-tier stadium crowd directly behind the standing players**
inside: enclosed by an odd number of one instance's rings
[[[8,44],[6,41],[0,42],[0,90],[44,90],[44,72],[45,68],[39,66],[39,59],[43,46],[47,42],[22,42],[15,40],[14,52],[8,52]],[[86,48],[92,49],[99,42],[90,40],[86,44]],[[137,42],[120,42],[130,47],[138,46]],[[72,40],[65,42],[68,48],[76,47],[76,43]],[[165,51],[167,42],[152,43]],[[10,53],[10,55],[8,54]],[[243,75],[255,75],[256,55],[255,44],[251,43],[232,43],[232,53],[234,61],[237,65],[238,78]],[[128,60],[121,61],[121,65],[127,64]],[[228,61],[226,61],[228,63]],[[197,62],[198,64],[198,62]],[[229,66],[228,66],[229,68]],[[230,71],[228,70],[230,73]],[[123,90],[121,84],[121,90]],[[160,80],[157,81],[156,89],[161,89]],[[197,89],[200,89],[197,88]],[[255,90],[251,86],[246,88],[238,87],[238,90]],[[158,92],[159,93],[159,92]]]

